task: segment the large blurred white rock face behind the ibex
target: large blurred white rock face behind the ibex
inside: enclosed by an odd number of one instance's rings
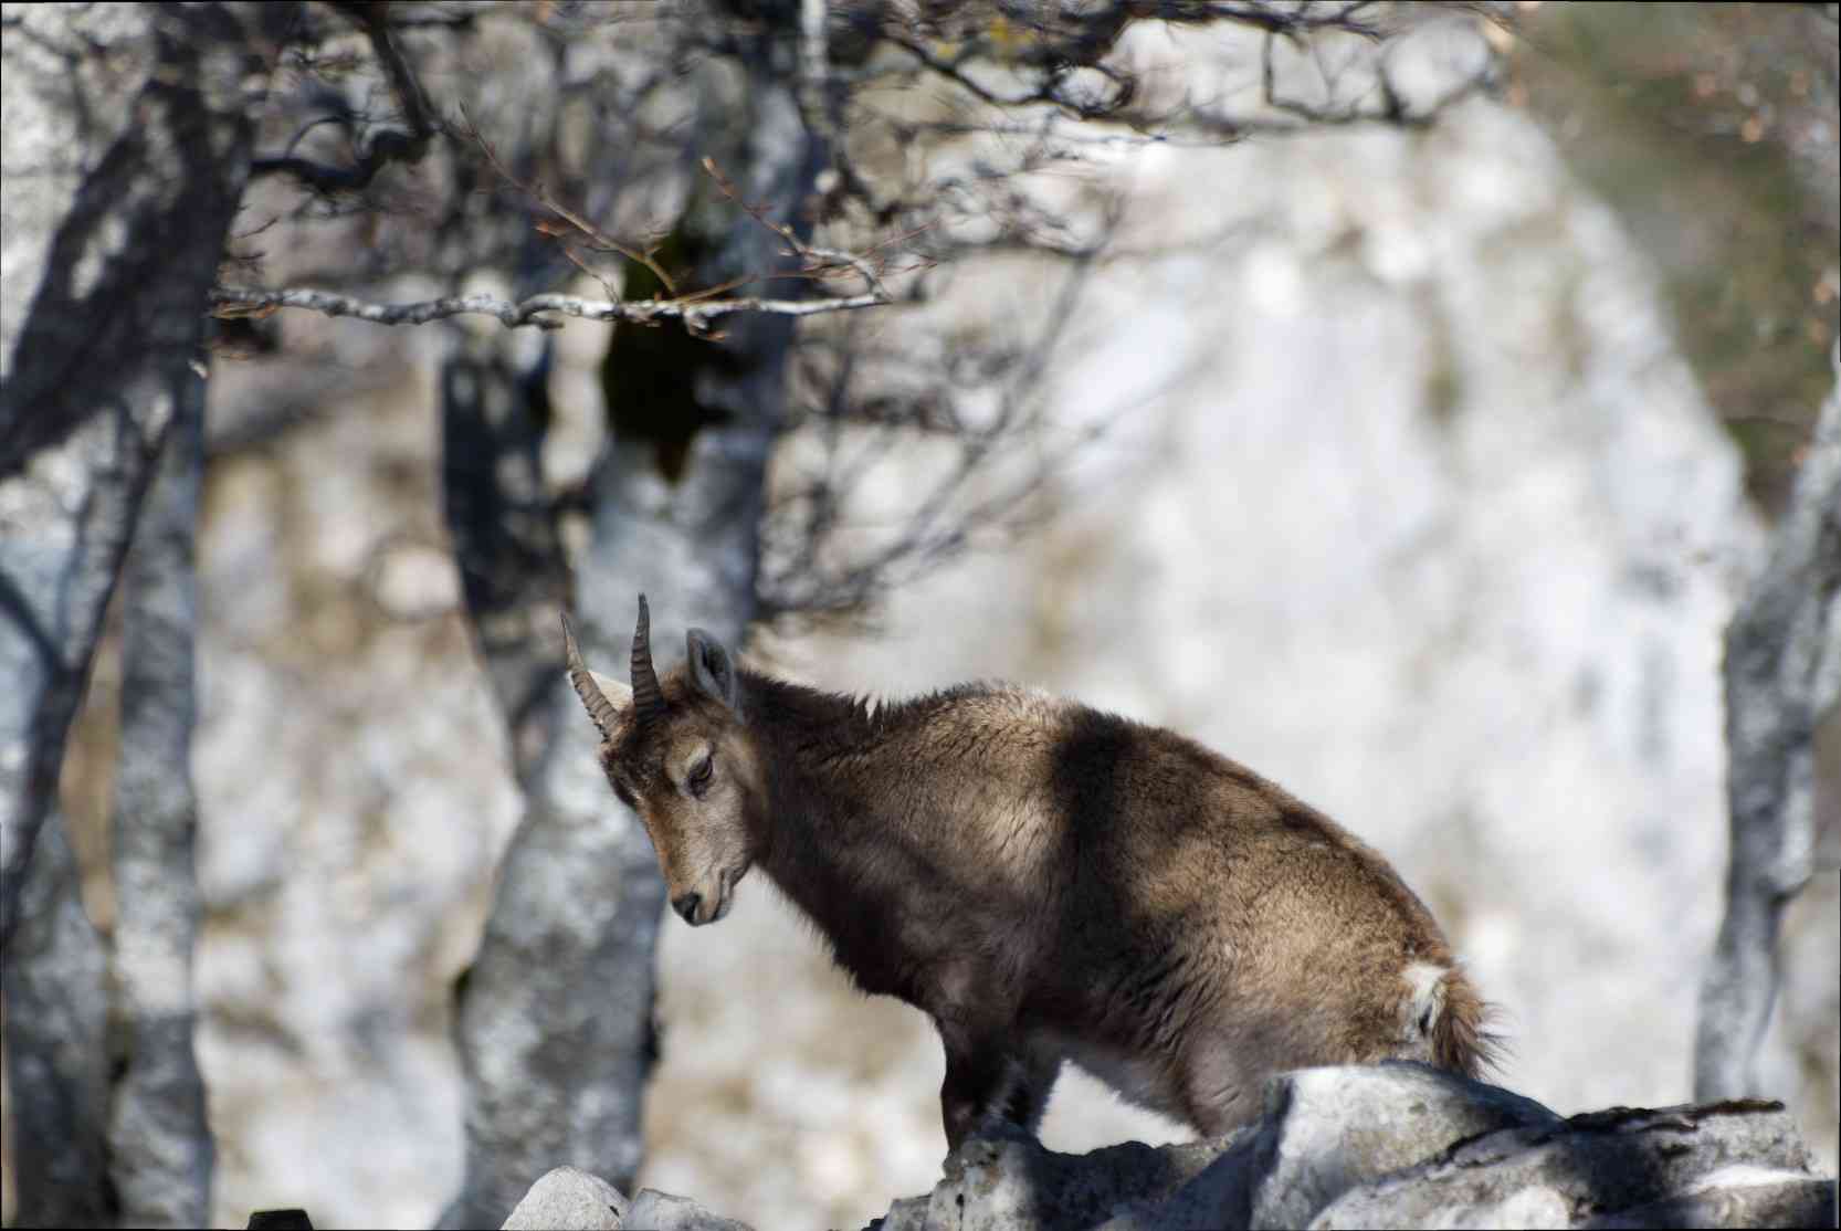
[[[1110,434],[1048,530],[902,591],[871,640],[777,662],[887,694],[1011,677],[1189,732],[1401,869],[1502,1007],[1506,1086],[1563,1113],[1690,1099],[1719,637],[1758,530],[1640,259],[1491,105],[1425,136],[1160,151],[1138,188],[1143,241],[1256,237],[1083,305],[1053,397]],[[1767,1071],[1832,1170],[1823,915]],[[858,1185],[935,1174],[939,1045],[801,931],[764,887],[729,927],[666,926],[646,1183],[851,1224],[880,1209]],[[1815,1084],[1799,1053],[1826,1056]],[[1173,1135],[1066,1076],[1044,1124],[1060,1150]]]

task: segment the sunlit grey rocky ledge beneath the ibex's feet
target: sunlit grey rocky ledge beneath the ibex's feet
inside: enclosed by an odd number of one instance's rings
[[[543,1176],[506,1227],[747,1231],[692,1200],[626,1200],[573,1167]],[[978,1137],[926,1196],[871,1231],[1178,1231],[1187,1227],[1834,1227],[1775,1102],[1611,1108],[1561,1117],[1414,1064],[1303,1069],[1217,1141],[1055,1154]]]

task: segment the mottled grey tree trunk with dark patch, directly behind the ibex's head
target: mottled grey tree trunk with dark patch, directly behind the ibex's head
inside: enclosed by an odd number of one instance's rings
[[[703,92],[703,149],[751,204],[803,228],[819,147],[799,123],[790,77],[768,72],[766,57],[762,46],[746,75]],[[679,239],[707,250],[698,285],[786,263],[781,237],[718,204],[720,224],[696,204],[679,223]],[[593,534],[574,576],[578,637],[604,672],[624,672],[641,592],[661,626],[661,666],[672,657],[670,631],[696,624],[738,646],[753,618],[766,467],[784,420],[793,324],[753,316],[731,318],[725,329],[711,342],[676,326],[626,326],[611,342],[611,445],[591,477]],[[486,467],[449,460],[451,480],[464,471]],[[644,828],[600,775],[595,731],[562,672],[558,615],[545,613],[541,633],[552,738],[528,767],[528,811],[501,869],[479,957],[457,990],[468,1159],[446,1227],[497,1225],[552,1167],[574,1165],[626,1189],[641,1161],[665,887]]]

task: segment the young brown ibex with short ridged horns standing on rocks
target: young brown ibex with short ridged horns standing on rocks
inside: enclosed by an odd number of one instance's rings
[[[957,1148],[1035,1132],[1062,1060],[1217,1135],[1272,1073],[1384,1058],[1475,1075],[1486,1008],[1381,856],[1169,731],[994,685],[873,707],[742,670],[690,629],[663,681],[569,677],[672,907],[760,869],[871,994],[946,1045]]]

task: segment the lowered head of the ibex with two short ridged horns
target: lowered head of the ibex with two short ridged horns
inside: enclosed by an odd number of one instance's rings
[[[661,683],[641,594],[628,688],[587,670],[563,616],[569,681],[600,731],[600,765],[652,835],[672,909],[700,926],[729,913],[735,885],[755,859],[751,835],[764,832],[764,804],[729,651],[703,629],[690,629],[687,640],[689,664]]]

